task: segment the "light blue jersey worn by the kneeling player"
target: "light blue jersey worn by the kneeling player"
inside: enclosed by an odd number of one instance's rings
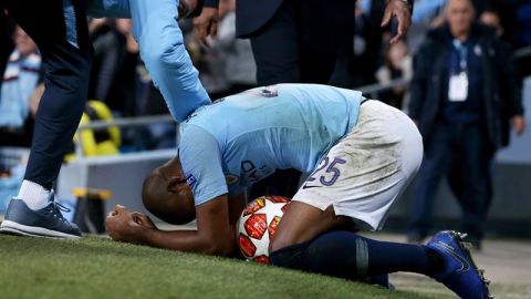
[[[196,205],[237,195],[275,169],[312,172],[357,121],[362,94],[279,84],[221,99],[181,126],[179,158]]]

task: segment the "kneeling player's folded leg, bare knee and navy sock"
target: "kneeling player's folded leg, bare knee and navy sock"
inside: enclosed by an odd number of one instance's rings
[[[426,246],[377,241],[339,230],[347,224],[332,208],[323,212],[292,202],[272,241],[272,264],[358,280],[396,271],[434,275],[444,269],[442,258]]]

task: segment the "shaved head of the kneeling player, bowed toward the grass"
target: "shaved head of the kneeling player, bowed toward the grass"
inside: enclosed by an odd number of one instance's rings
[[[196,218],[194,196],[178,157],[155,168],[142,186],[144,206],[158,218],[175,225]]]

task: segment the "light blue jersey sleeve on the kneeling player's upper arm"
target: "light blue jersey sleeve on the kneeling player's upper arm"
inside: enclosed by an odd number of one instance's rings
[[[206,130],[187,124],[181,131],[179,158],[196,206],[228,193],[216,138]]]

